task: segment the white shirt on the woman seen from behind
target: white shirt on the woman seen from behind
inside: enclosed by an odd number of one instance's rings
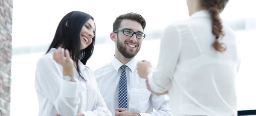
[[[236,75],[239,41],[223,23],[227,51],[217,52],[212,43],[209,12],[192,14],[165,29],[160,41],[157,68],[148,75],[152,91],[169,92],[174,116],[236,116]]]

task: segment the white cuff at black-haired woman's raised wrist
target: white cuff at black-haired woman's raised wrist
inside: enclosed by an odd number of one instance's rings
[[[75,98],[78,96],[79,82],[66,81],[61,78],[60,95],[65,98]]]

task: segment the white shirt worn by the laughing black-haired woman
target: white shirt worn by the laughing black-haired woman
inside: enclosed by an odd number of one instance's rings
[[[53,60],[53,50],[43,55],[36,64],[35,88],[38,95],[38,116],[112,116],[99,92],[93,71],[79,61],[84,77],[79,77],[74,67],[74,76],[79,81],[65,81],[63,68]]]

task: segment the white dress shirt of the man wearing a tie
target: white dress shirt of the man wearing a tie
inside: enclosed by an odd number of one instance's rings
[[[114,115],[118,111],[118,85],[123,64],[113,57],[112,63],[96,70],[94,75],[108,109]],[[126,66],[128,110],[141,116],[171,116],[166,96],[156,96],[146,89],[145,79],[137,74],[137,61],[131,59]],[[153,112],[153,108],[157,110]]]

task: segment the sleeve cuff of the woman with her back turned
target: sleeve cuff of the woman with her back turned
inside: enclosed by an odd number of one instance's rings
[[[163,93],[167,90],[163,87],[158,86],[156,83],[154,83],[153,72],[148,74],[148,84],[154,93]]]

